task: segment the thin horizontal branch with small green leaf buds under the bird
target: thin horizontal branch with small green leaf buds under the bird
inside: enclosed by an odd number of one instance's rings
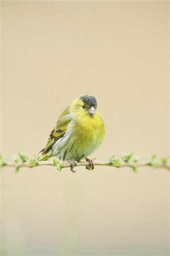
[[[72,164],[69,162],[59,162],[56,159],[53,159],[52,162],[41,161],[41,155],[35,155],[34,158],[28,158],[28,156],[24,153],[19,152],[18,156],[13,158],[13,162],[9,162],[7,159],[3,159],[0,155],[0,167],[12,167],[15,172],[20,171],[20,168],[34,168],[38,166],[53,166],[56,167],[58,171],[61,171],[63,168],[70,167],[72,170]],[[129,167],[132,171],[137,172],[140,167],[151,167],[155,168],[163,168],[167,171],[170,171],[169,160],[170,156],[165,156],[161,158],[159,161],[156,159],[156,155],[152,155],[150,158],[146,158],[143,162],[139,161],[139,156],[134,155],[133,153],[124,154],[121,158],[115,158],[111,156],[109,161],[102,162],[97,161],[96,159],[92,159],[94,166],[110,166],[115,168]],[[75,161],[75,166],[86,166],[88,170],[92,170],[92,166],[89,162]],[[72,170],[73,171],[73,170]]]

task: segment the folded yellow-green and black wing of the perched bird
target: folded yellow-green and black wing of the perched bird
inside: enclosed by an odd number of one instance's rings
[[[49,135],[47,145],[43,148],[42,154],[43,156],[48,155],[47,153],[51,151],[53,144],[60,138],[62,138],[65,134],[67,126],[72,119],[72,114],[69,113],[69,106],[64,112],[60,115],[59,119],[56,122],[55,129],[52,130],[51,134]],[[49,155],[48,155],[49,157]],[[43,157],[43,159],[45,159]]]

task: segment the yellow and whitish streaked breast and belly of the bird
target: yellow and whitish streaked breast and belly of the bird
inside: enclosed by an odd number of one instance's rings
[[[100,116],[74,118],[69,123],[64,137],[53,146],[54,154],[62,160],[85,158],[101,144],[104,131]]]

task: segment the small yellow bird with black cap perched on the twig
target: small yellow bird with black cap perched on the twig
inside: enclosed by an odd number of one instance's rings
[[[103,141],[105,126],[97,109],[97,100],[92,95],[82,95],[63,111],[49,135],[47,145],[41,150],[42,159],[57,156],[71,164],[71,171],[76,162],[88,158]]]

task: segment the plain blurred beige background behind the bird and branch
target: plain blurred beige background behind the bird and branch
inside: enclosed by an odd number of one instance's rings
[[[92,156],[168,154],[168,2],[1,2],[2,153],[41,150],[93,94]],[[1,255],[168,255],[168,172],[53,167],[1,173]]]

